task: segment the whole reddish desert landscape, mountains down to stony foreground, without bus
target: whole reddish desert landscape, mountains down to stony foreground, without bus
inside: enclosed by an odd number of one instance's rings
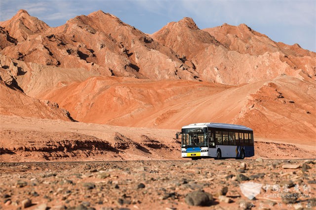
[[[245,24],[157,30],[0,22],[0,209],[315,208],[316,53]],[[175,134],[197,122],[250,127],[255,156],[183,160]],[[249,180],[311,197],[249,200]]]

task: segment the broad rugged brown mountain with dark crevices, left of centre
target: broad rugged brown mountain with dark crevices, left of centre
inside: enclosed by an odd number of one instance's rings
[[[102,11],[49,28],[3,49],[2,54],[25,62],[36,60],[42,65],[84,68],[108,76],[195,79],[194,70],[172,50]]]

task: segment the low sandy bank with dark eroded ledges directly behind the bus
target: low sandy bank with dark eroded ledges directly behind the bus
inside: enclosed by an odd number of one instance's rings
[[[180,160],[177,131],[1,115],[0,161]],[[252,159],[316,155],[306,145],[255,141]]]

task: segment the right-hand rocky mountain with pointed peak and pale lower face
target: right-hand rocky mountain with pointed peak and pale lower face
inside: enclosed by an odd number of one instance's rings
[[[315,52],[276,43],[245,24],[199,30],[191,18],[184,18],[152,37],[192,63],[203,81],[238,85],[284,73],[315,80]]]

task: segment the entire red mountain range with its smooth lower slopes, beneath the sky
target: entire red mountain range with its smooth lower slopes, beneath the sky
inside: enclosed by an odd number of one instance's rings
[[[200,30],[184,18],[147,35],[103,11],[51,28],[20,10],[0,22],[0,64],[0,114],[164,129],[212,121],[266,139],[316,136],[316,53],[245,24]]]

